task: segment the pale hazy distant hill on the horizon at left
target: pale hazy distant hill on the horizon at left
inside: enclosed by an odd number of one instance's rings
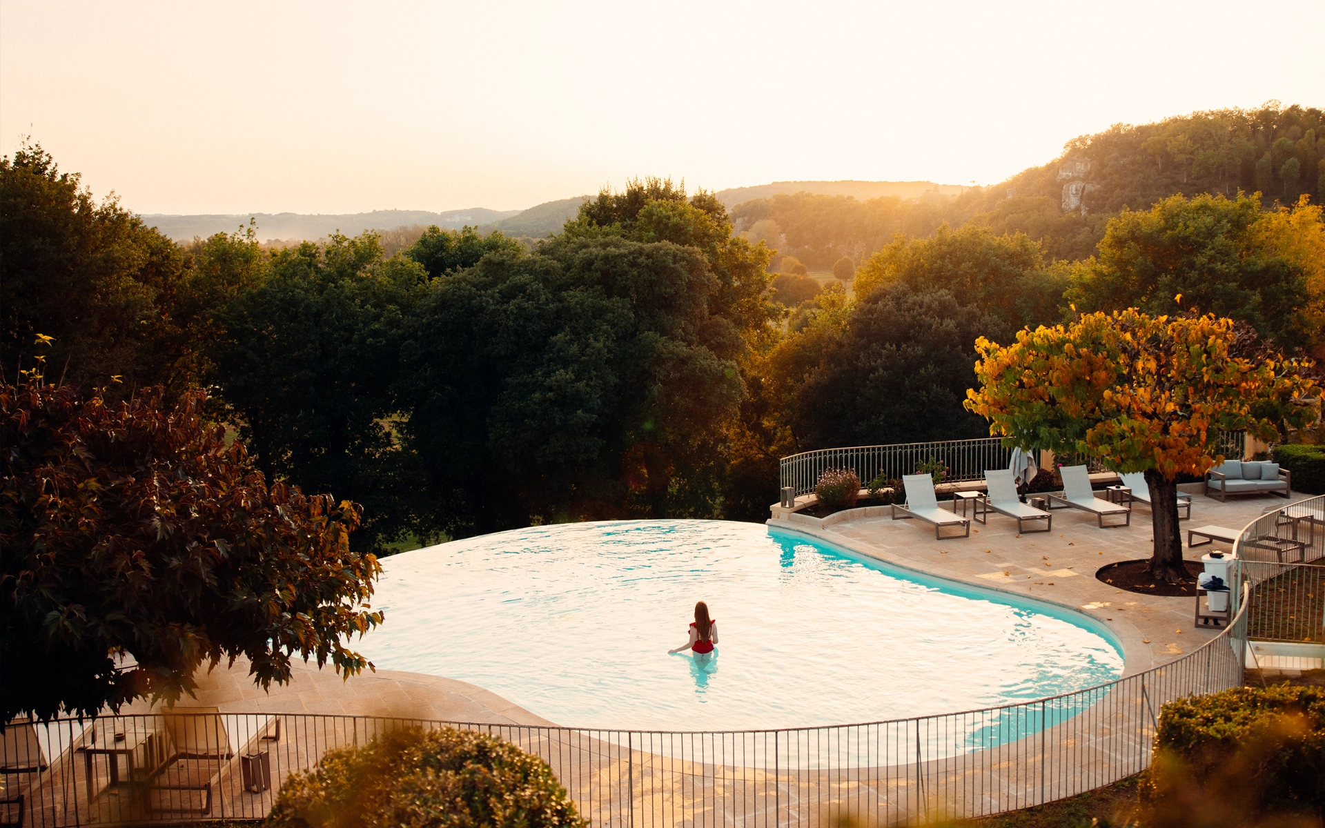
[[[537,208],[535,208],[537,209]],[[526,211],[527,212],[527,211]],[[458,231],[464,225],[481,225],[518,216],[521,211],[498,211],[486,207],[472,209],[452,209],[444,213],[431,213],[421,209],[375,209],[371,213],[343,215],[303,215],[303,213],[236,213],[212,216],[167,216],[147,215],[143,221],[155,227],[175,241],[188,241],[195,236],[208,237],[216,233],[235,232],[246,225],[249,216],[257,220],[258,238],[307,238],[317,240],[341,232],[358,236],[363,231],[388,231],[415,224]]]

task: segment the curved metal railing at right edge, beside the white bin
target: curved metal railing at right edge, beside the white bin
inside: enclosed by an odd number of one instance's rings
[[[1267,509],[1239,534],[1234,558],[1248,639],[1325,641],[1325,497]]]

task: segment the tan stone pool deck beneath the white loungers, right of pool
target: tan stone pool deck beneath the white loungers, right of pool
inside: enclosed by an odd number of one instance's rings
[[[1183,556],[1198,560],[1211,551],[1230,551],[1230,543],[1187,547],[1187,529],[1206,525],[1240,531],[1267,506],[1298,501],[1280,497],[1234,498],[1222,503],[1204,494],[1191,495],[1191,519],[1182,521]],[[951,507],[951,503],[942,503]],[[916,519],[893,521],[888,506],[872,507],[881,517],[864,517],[827,529],[798,514],[770,519],[768,526],[802,533],[885,563],[996,590],[1031,596],[1090,615],[1113,631],[1124,648],[1125,676],[1149,670],[1189,653],[1220,628],[1194,627],[1195,599],[1159,597],[1125,592],[1096,579],[1100,567],[1120,560],[1150,558],[1154,531],[1147,506],[1134,506],[1132,525],[1100,529],[1093,514],[1055,509],[1053,531],[1018,534],[1016,521],[990,514],[986,523],[971,522],[970,538],[934,539],[934,527]],[[945,529],[945,533],[953,533]],[[1199,539],[1198,539],[1199,541]]]

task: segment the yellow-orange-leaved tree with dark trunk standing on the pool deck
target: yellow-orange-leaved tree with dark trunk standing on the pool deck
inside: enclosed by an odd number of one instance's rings
[[[1129,309],[1069,325],[1023,330],[1000,346],[975,346],[979,391],[966,407],[990,433],[1022,448],[1100,460],[1143,472],[1154,517],[1157,582],[1187,580],[1178,530],[1178,476],[1222,462],[1220,431],[1273,441],[1277,425],[1301,427],[1312,363],[1287,359],[1232,319],[1189,313],[1150,317]]]

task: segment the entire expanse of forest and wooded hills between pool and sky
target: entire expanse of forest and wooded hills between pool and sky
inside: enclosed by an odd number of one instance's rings
[[[1316,109],[1198,113],[1076,139],[1002,187],[730,213],[639,179],[549,238],[432,227],[390,250],[252,227],[176,244],[25,146],[0,163],[0,366],[40,352],[110,403],[205,388],[268,480],[363,506],[362,551],[761,521],[779,457],[987,435],[962,408],[980,336],[1140,307],[1325,354],[1318,132]]]

